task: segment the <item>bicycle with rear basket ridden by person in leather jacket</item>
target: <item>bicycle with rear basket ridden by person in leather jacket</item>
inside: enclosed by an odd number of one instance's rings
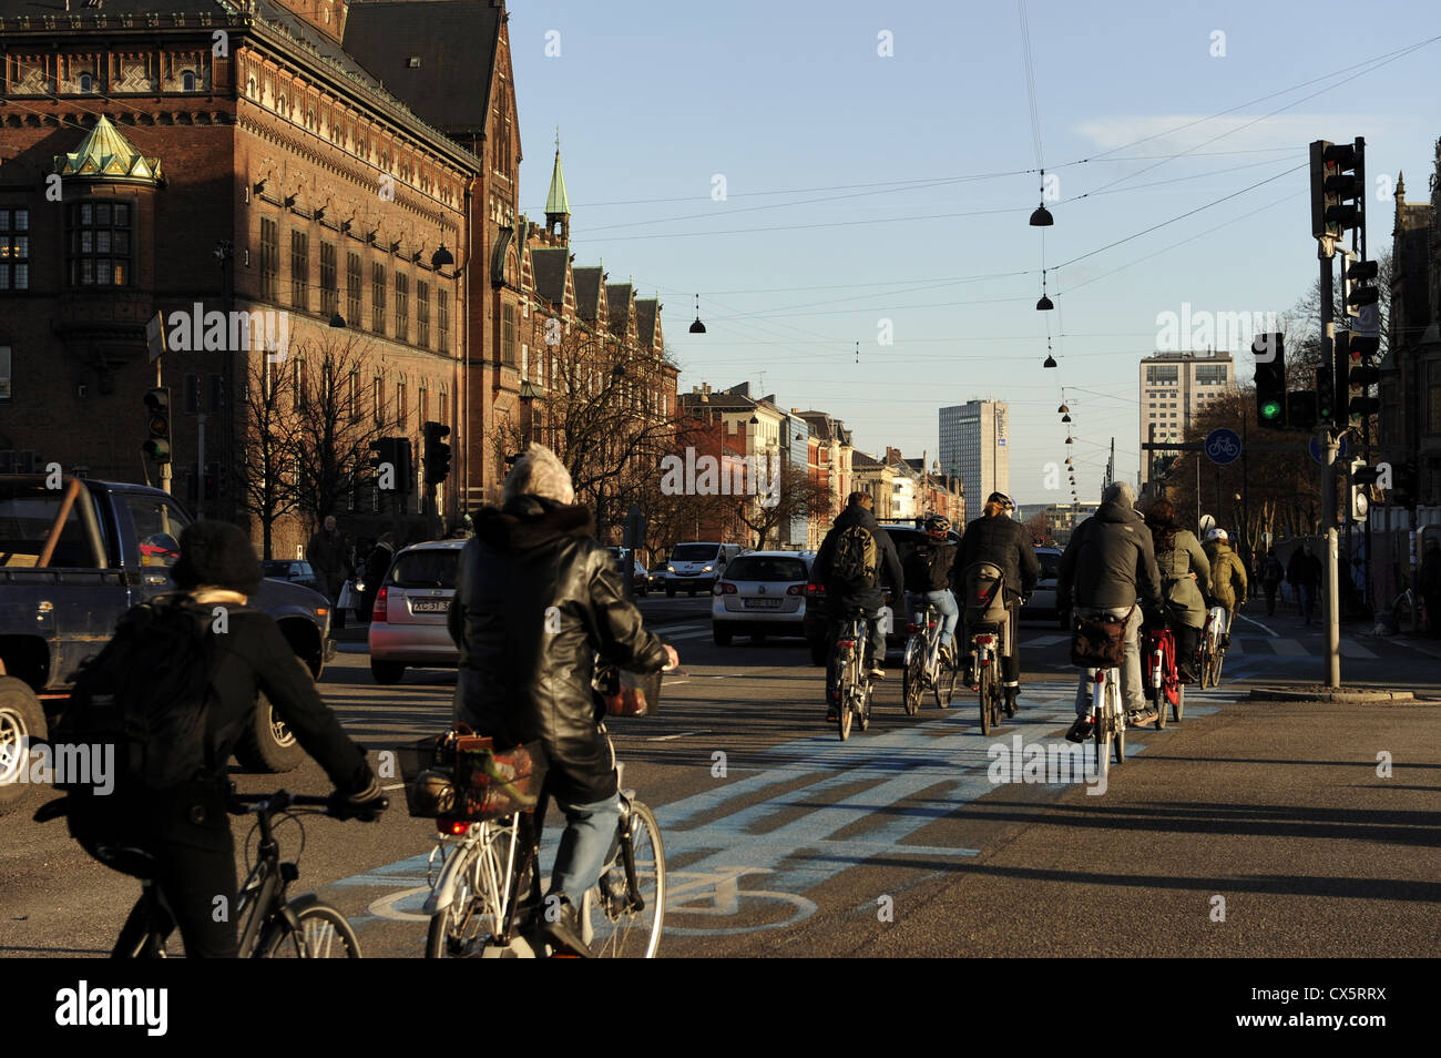
[[[621,790],[620,801],[601,878],[581,901],[582,938],[599,957],[653,959],[666,915],[666,850],[654,813],[635,791]],[[427,959],[556,954],[539,935],[550,901],[540,894],[543,820],[543,803],[494,820],[437,819]]]

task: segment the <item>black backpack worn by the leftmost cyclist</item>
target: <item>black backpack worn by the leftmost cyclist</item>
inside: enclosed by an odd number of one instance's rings
[[[81,666],[53,741],[114,745],[122,790],[208,777],[215,771],[208,626],[209,611],[182,603],[133,607],[105,649]]]

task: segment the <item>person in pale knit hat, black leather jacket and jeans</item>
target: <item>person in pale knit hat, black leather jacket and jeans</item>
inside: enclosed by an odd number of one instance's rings
[[[615,748],[592,693],[597,656],[640,673],[670,672],[679,659],[625,600],[555,453],[532,444],[503,496],[504,506],[477,515],[455,572],[447,618],[460,647],[455,719],[497,747],[543,744],[545,793],[565,814],[565,832],[542,930],[589,954],[578,908],[614,855],[621,816]]]

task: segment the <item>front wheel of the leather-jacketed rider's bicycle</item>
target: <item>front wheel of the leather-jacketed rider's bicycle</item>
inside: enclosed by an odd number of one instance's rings
[[[666,920],[666,849],[654,813],[631,801],[628,873],[625,848],[599,884],[585,894],[582,914],[591,924],[591,953],[598,959],[654,959]],[[635,899],[628,882],[635,884]]]

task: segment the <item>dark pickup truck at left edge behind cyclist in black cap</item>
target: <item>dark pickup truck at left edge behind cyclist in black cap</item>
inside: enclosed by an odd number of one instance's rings
[[[127,610],[174,590],[170,566],[192,520],[159,489],[0,474],[0,814],[32,793],[19,770],[30,744],[46,738],[48,712],[65,703],[81,662],[99,653]],[[275,618],[318,679],[334,652],[326,597],[267,579],[251,605]],[[241,767],[290,771],[303,755],[262,701],[236,748]]]

